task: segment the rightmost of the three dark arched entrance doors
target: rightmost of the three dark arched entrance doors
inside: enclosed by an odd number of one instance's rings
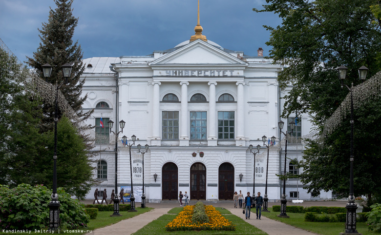
[[[232,200],[234,194],[234,167],[230,163],[222,163],[218,168],[218,199]]]

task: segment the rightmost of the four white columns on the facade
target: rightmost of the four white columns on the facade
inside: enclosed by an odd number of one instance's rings
[[[235,136],[235,145],[244,146],[245,145],[245,133],[244,133],[244,89],[243,85],[246,83],[239,81],[235,83],[237,85],[237,132]]]

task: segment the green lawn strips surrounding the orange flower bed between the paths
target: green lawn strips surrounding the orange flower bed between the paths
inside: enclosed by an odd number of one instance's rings
[[[172,221],[177,214],[182,211],[182,207],[176,207],[171,209],[168,213],[175,213],[176,214],[167,214],[167,215],[162,215],[158,219],[150,222],[148,225],[143,227],[142,229],[138,230],[136,233],[133,235],[162,235],[162,234],[171,234],[171,235],[180,235],[180,234],[264,234],[266,235],[265,232],[257,229],[251,224],[248,224],[242,218],[232,215],[228,210],[221,208],[221,207],[216,207],[216,210],[221,212],[225,218],[229,219],[230,221],[233,222],[233,224],[236,225],[236,230],[235,231],[176,231],[176,232],[168,232],[165,228],[165,226]]]

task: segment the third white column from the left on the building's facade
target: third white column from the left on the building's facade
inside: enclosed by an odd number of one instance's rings
[[[217,82],[210,81],[209,85],[209,114],[208,114],[208,145],[217,146],[216,115],[215,115],[215,86]]]

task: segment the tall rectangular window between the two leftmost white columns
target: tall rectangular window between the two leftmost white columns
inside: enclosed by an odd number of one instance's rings
[[[162,136],[163,139],[179,139],[179,112],[162,112]]]

